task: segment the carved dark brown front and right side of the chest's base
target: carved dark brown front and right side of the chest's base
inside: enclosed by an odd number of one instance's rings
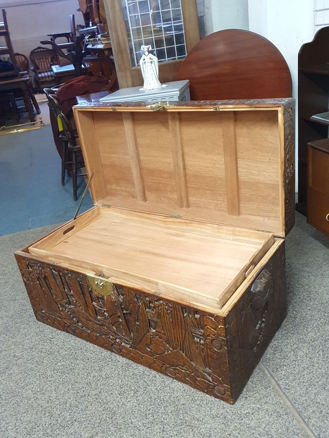
[[[284,244],[224,318],[114,286],[98,296],[83,274],[16,256],[39,321],[233,403],[279,328]]]

